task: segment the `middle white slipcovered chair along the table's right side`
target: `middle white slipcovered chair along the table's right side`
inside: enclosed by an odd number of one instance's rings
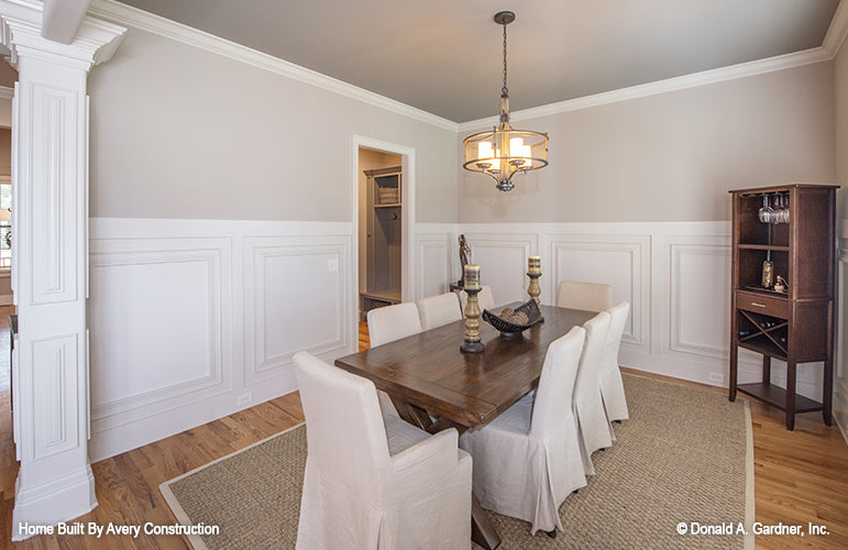
[[[583,344],[577,380],[574,383],[574,416],[577,418],[583,468],[586,475],[595,474],[592,453],[610,447],[615,439],[604,410],[604,398],[601,395],[601,358],[604,353],[606,334],[609,331],[609,314],[601,311],[583,324],[586,329],[586,341]]]

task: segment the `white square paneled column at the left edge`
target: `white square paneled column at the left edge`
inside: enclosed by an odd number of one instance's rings
[[[13,540],[97,506],[88,459],[88,97],[90,68],[125,29],[86,18],[70,44],[41,36],[41,3],[0,0],[0,38],[19,70],[12,120]]]

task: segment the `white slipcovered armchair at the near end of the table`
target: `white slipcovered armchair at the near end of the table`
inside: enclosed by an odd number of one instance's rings
[[[295,354],[308,452],[297,548],[471,548],[471,457],[456,430],[383,417],[374,384]]]

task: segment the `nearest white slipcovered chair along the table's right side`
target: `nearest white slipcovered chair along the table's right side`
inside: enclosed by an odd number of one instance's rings
[[[535,397],[526,395],[460,438],[474,459],[474,494],[481,505],[529,521],[533,535],[562,529],[560,505],[586,485],[571,408],[584,336],[574,327],[551,342]]]

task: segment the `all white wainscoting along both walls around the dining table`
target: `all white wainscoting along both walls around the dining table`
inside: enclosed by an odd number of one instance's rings
[[[621,364],[727,385],[729,222],[417,223],[414,299],[459,278],[460,233],[497,302],[526,299],[527,256],[540,254],[542,302],[560,279],[608,283],[630,301]],[[354,239],[345,222],[92,219],[92,460],[297,389],[299,350],[355,351]],[[740,381],[760,364],[740,353]],[[836,386],[844,421],[844,375]],[[800,366],[799,392],[821,398],[818,365]]]

